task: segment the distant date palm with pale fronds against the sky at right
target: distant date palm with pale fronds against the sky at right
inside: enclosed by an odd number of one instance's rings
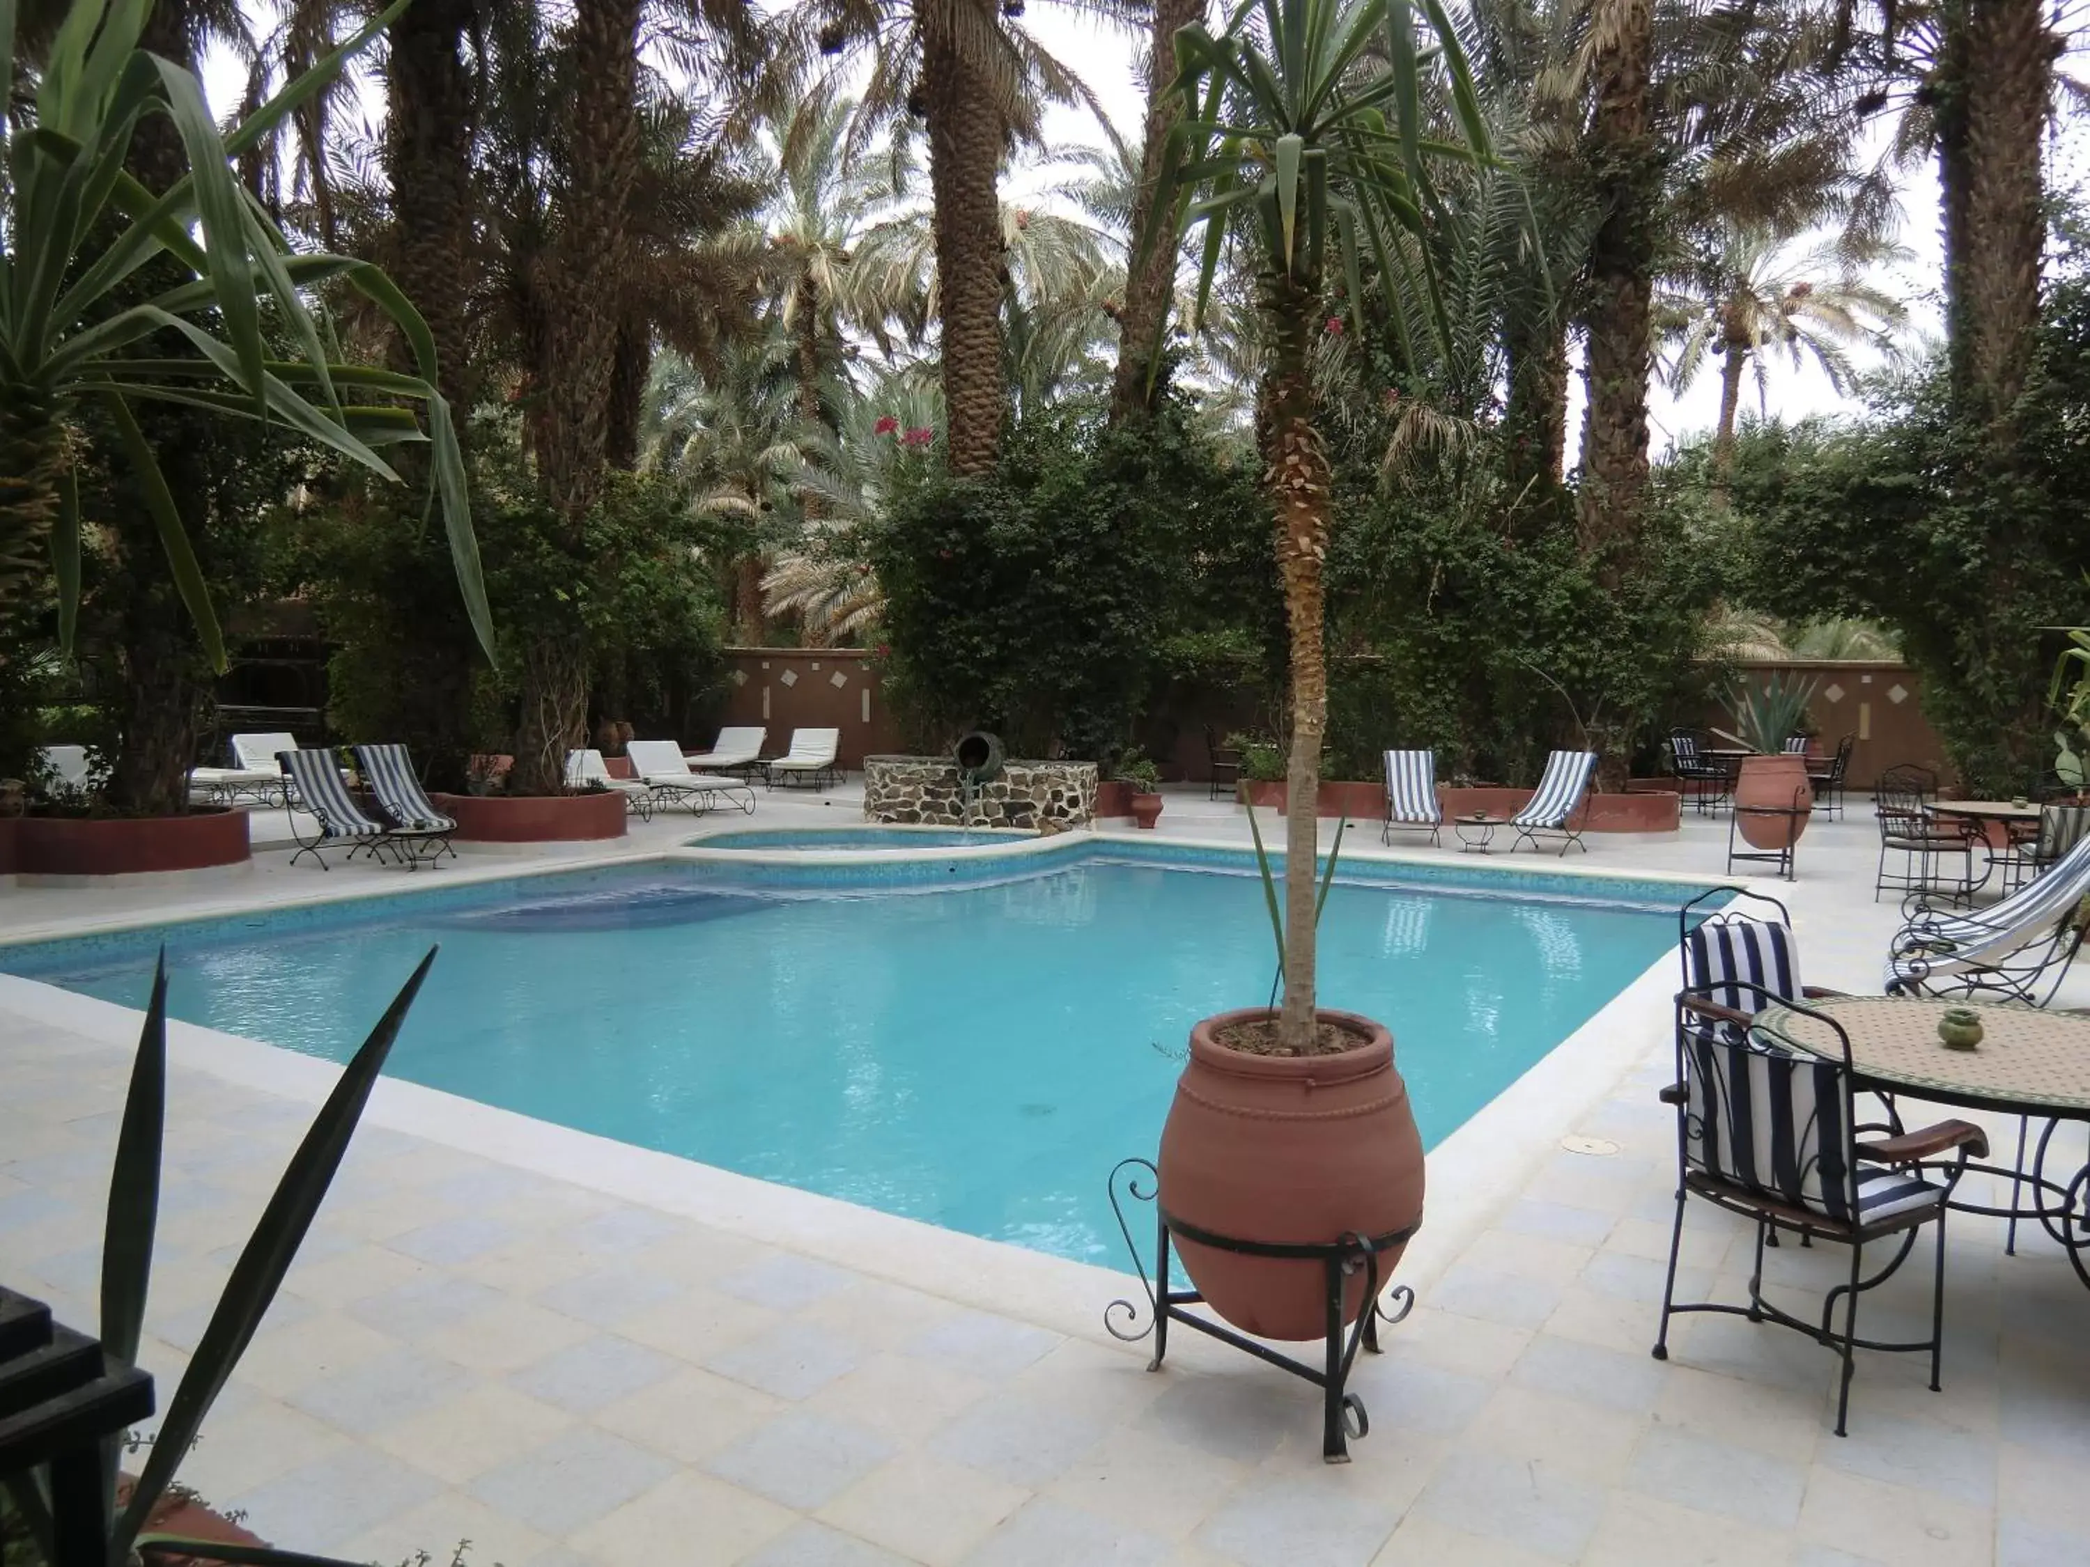
[[[1831,242],[1795,253],[1774,230],[1743,224],[1728,224],[1720,240],[1655,295],[1655,309],[1672,343],[1664,372],[1672,391],[1682,393],[1708,359],[1720,359],[1712,493],[1724,499],[1743,376],[1754,370],[1758,397],[1768,397],[1768,355],[1783,351],[1795,370],[1812,359],[1843,391],[1852,380],[1850,349],[1891,349],[1908,311],[1862,276],[1866,263],[1906,255],[1900,247]]]

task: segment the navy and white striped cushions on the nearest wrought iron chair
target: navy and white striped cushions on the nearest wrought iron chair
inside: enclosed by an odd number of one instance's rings
[[[1687,1032],[1685,1089],[1685,1162],[1722,1185],[1860,1226],[1946,1197],[1912,1170],[1858,1164],[1843,1068],[1776,1036]]]

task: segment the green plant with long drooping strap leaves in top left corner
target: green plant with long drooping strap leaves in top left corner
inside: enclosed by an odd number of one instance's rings
[[[0,104],[15,107],[21,0],[0,0]],[[211,660],[224,635],[173,495],[132,412],[184,403],[228,418],[280,420],[364,468],[397,478],[380,447],[426,441],[451,560],[472,627],[493,652],[449,405],[435,391],[435,341],[414,305],[368,261],[295,255],[232,161],[314,98],[343,63],[405,8],[397,0],[355,38],[291,81],[230,136],[211,123],[196,77],[138,48],[153,0],[71,0],[36,73],[27,113],[0,115],[0,606],[56,575],[59,635],[79,600],[79,439],[94,403],[136,470],[167,566]],[[148,115],[180,132],[188,173],[163,192],[125,169]],[[136,299],[140,270],[171,261],[180,282]],[[341,364],[307,293],[324,284],[370,299],[414,349],[418,374]],[[270,357],[263,320],[293,357]],[[186,357],[150,357],[173,334]],[[374,399],[343,401],[345,393]],[[422,430],[414,407],[422,410]],[[48,556],[46,556],[48,552]]]

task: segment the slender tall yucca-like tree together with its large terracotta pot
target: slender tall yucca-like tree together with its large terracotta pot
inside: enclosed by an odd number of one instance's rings
[[[1427,65],[1423,38],[1434,48]],[[1427,320],[1432,293],[1402,288],[1436,205],[1423,159],[1476,157],[1488,136],[1436,0],[1425,0],[1421,17],[1407,0],[1241,4],[1218,38],[1202,25],[1179,31],[1177,65],[1183,119],[1170,132],[1154,213],[1164,242],[1185,224],[1206,224],[1200,309],[1229,226],[1256,257],[1264,345],[1256,424],[1292,631],[1292,735],[1281,901],[1267,884],[1283,1003],[1227,1011],[1191,1030],[1162,1130],[1158,1197],[1185,1229],[1239,1241],[1407,1235],[1421,1220],[1423,1151],[1392,1034],[1369,1018],[1321,1009],[1315,990],[1327,729],[1321,572],[1333,485],[1310,355],[1327,322],[1342,322],[1333,311],[1358,334],[1369,330],[1367,255],[1375,288],[1388,293],[1379,320]],[[1444,79],[1453,104],[1450,123],[1432,121],[1427,140],[1425,71]],[[1340,305],[1329,286],[1336,259]],[[1206,1304],[1235,1327],[1273,1339],[1327,1331],[1317,1262],[1195,1241],[1181,1241],[1179,1256]],[[1398,1245],[1381,1256],[1381,1277],[1398,1256]],[[1363,1308],[1358,1287],[1346,1312],[1354,1318]]]

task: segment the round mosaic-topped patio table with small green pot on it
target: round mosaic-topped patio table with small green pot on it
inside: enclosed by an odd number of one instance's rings
[[[2017,1220],[2036,1218],[2067,1249],[2084,1285],[2090,1285],[2090,1164],[2073,1170],[2067,1180],[2046,1174],[2048,1155],[2059,1157],[2052,1143],[2061,1122],[2090,1124],[2090,1018],[2011,1003],[1898,997],[1829,997],[1810,1001],[1808,1007],[1843,1026],[1858,1086],[2025,1118],[2019,1122],[2015,1168],[1967,1166],[2006,1178],[2011,1201],[1988,1206],[1954,1197],[1952,1208],[2008,1218],[2013,1241]],[[1981,1043],[1975,1049],[1948,1049],[1937,1038],[1937,1020],[1950,1007],[1967,1007],[1981,1018]],[[1818,1018],[1772,1003],[1756,1026],[1812,1055],[1841,1059],[1835,1032]],[[2046,1120],[2046,1128],[2031,1170],[2025,1170],[2029,1118]],[[2029,1208],[2021,1201],[2025,1191],[2031,1193]]]

